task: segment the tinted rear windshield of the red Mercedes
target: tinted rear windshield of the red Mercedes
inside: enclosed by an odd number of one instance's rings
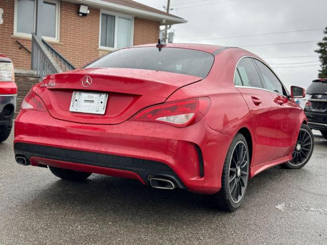
[[[174,47],[135,47],[112,52],[86,67],[159,70],[205,78],[213,62],[212,54],[198,50]]]

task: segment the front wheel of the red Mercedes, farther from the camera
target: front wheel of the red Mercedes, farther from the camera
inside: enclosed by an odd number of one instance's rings
[[[311,129],[307,125],[302,124],[292,153],[293,159],[284,163],[283,166],[289,169],[299,169],[305,166],[312,156],[313,149],[314,137]]]

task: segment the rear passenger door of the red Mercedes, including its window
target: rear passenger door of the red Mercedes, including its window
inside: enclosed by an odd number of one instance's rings
[[[272,160],[278,120],[278,106],[264,88],[258,71],[252,59],[245,57],[240,60],[235,72],[235,86],[248,105],[252,118],[255,141],[253,165]]]

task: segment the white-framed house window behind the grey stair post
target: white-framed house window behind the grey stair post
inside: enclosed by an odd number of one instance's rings
[[[31,37],[35,31],[35,9],[34,0],[15,0],[14,35]],[[59,1],[43,0],[42,11],[38,16],[42,36],[47,40],[59,40]]]

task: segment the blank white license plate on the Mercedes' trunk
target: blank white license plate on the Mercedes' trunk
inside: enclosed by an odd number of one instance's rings
[[[69,111],[103,115],[106,111],[107,93],[73,92]]]

